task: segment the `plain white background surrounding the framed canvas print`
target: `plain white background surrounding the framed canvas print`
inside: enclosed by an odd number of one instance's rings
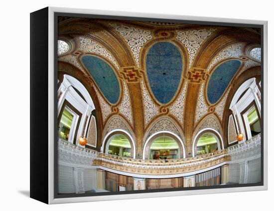
[[[270,0],[3,0],[1,1],[1,153],[0,210],[272,210],[273,167],[269,165],[269,191],[168,197],[47,206],[29,199],[29,13],[46,7],[78,7],[170,13],[181,15],[269,20],[269,80],[274,80],[274,15]],[[274,90],[274,83],[269,83]],[[269,92],[269,108],[274,98]],[[271,98],[272,97],[272,98]],[[268,113],[274,118],[273,111]],[[16,121],[15,121],[16,120]],[[274,128],[269,121],[269,132]],[[269,134],[269,151],[273,150]],[[274,153],[269,153],[273,164]],[[212,201],[213,200],[213,201]],[[197,203],[199,202],[199,203]],[[197,205],[200,205],[196,207]],[[205,206],[210,205],[210,206]],[[146,209],[144,209],[146,207]]]

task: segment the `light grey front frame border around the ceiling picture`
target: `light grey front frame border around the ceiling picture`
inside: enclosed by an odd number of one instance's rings
[[[173,14],[158,14],[158,13],[141,13],[141,12],[126,12],[126,11],[110,11],[110,10],[94,10],[94,9],[79,9],[79,8],[63,8],[63,7],[48,7],[48,203],[77,203],[77,202],[95,202],[108,200],[125,200],[125,199],[141,199],[155,197],[186,196],[200,194],[218,194],[231,192],[246,192],[246,191],[263,191],[268,189],[268,151],[267,151],[267,89],[268,89],[268,70],[267,70],[267,28],[266,20],[248,20],[248,19],[233,19],[233,18],[217,18],[217,17],[202,17],[202,16],[186,16]],[[264,186],[254,187],[239,187],[239,188],[223,188],[223,189],[205,189],[193,191],[174,191],[174,192],[158,192],[158,193],[137,193],[123,195],[108,195],[108,196],[92,196],[92,197],[74,197],[54,199],[54,12],[66,13],[85,13],[99,15],[117,15],[117,16],[132,16],[132,17],[147,17],[147,18],[166,18],[166,19],[182,19],[192,21],[209,21],[209,22],[224,22],[224,23],[242,23],[242,24],[260,24],[264,25]]]

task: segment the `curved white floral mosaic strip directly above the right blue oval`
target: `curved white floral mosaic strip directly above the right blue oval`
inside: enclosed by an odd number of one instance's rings
[[[222,52],[220,52],[214,60],[210,63],[207,71],[211,69],[211,67],[216,64],[218,61],[230,58],[230,57],[239,57],[242,54],[242,43],[233,44],[227,48],[225,48]]]

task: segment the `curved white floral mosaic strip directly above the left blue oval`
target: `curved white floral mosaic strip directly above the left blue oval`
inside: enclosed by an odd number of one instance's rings
[[[112,55],[106,50],[106,48],[102,47],[101,45],[97,44],[91,39],[87,39],[85,37],[79,37],[79,41],[80,41],[80,47],[79,47],[80,50],[102,55],[108,58],[117,67],[117,69],[119,69],[117,62],[114,60]]]

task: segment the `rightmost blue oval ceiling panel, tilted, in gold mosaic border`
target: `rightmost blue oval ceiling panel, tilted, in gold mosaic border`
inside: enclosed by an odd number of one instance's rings
[[[207,86],[207,98],[211,104],[220,99],[240,66],[239,60],[229,60],[214,70]]]

